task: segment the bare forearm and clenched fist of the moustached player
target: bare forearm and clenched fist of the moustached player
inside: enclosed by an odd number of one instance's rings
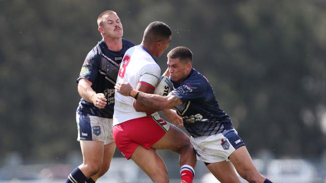
[[[96,93],[92,89],[92,82],[86,78],[81,78],[78,81],[78,93],[88,102],[94,103],[98,108],[104,108],[106,105],[106,98],[103,93]]]

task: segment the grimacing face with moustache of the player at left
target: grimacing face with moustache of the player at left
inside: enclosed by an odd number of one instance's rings
[[[103,18],[99,31],[106,38],[121,38],[123,35],[122,24],[117,14],[107,14]]]

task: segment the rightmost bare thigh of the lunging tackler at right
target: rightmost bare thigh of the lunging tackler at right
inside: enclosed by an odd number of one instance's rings
[[[229,159],[233,163],[237,172],[241,176],[248,176],[248,174],[259,174],[258,170],[254,166],[250,154],[246,146],[241,146],[236,149],[230,156]]]

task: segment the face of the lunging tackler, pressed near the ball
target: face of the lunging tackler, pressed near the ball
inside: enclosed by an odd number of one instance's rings
[[[173,81],[181,82],[185,79],[191,69],[191,63],[182,62],[179,58],[168,58],[170,77]]]

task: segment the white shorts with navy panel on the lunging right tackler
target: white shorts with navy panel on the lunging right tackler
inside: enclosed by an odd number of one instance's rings
[[[235,129],[209,136],[191,137],[197,159],[207,163],[229,161],[229,156],[240,146],[245,145]]]

